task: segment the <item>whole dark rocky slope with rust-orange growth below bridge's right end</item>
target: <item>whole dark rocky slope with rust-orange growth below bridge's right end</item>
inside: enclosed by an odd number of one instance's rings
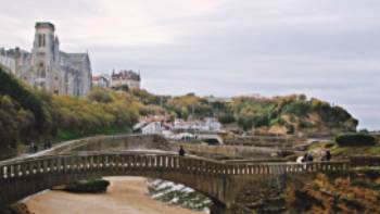
[[[270,178],[253,184],[237,198],[236,214],[380,213],[380,173],[318,174]]]

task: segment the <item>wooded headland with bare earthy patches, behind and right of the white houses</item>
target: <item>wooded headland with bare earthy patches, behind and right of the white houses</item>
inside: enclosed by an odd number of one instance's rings
[[[355,131],[358,125],[347,111],[332,106],[316,98],[291,95],[275,98],[237,97],[231,101],[213,101],[188,93],[180,97],[155,97],[148,91],[132,91],[145,104],[156,105],[180,118],[216,116],[238,130],[257,134],[318,133],[337,134]]]

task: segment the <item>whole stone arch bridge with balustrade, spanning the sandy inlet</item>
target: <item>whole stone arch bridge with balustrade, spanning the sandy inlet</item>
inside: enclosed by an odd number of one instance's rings
[[[228,207],[244,185],[257,177],[344,171],[349,162],[231,164],[173,153],[86,152],[0,162],[0,202],[78,179],[102,176],[144,176],[182,184],[214,201],[212,213]]]

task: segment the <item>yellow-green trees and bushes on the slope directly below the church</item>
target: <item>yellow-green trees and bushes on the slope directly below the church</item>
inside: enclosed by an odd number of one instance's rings
[[[126,92],[101,89],[88,98],[51,95],[0,68],[0,159],[21,144],[129,131],[141,105]]]

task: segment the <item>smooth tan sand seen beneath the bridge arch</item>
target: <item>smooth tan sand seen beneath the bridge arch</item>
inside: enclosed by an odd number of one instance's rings
[[[103,194],[47,191],[25,201],[35,214],[205,214],[167,205],[148,196],[147,178],[107,177]]]

